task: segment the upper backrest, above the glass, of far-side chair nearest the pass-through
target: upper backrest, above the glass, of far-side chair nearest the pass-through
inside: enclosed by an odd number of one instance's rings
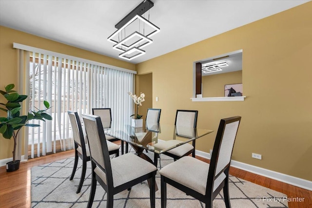
[[[176,110],[176,126],[193,127],[197,125],[198,111]]]

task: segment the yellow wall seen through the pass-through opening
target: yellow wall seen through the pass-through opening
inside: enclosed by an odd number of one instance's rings
[[[203,97],[223,97],[224,85],[242,83],[242,71],[202,76],[201,82]]]

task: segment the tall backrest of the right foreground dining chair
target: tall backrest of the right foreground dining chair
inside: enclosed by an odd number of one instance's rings
[[[214,188],[211,186],[212,184],[215,185],[215,179],[217,179],[222,173],[226,176],[229,174],[231,157],[240,119],[240,116],[234,116],[220,120],[209,166],[207,189],[210,188],[215,190],[216,187]]]

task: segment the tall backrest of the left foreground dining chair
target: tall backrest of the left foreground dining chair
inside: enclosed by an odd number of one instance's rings
[[[111,162],[101,118],[96,115],[82,114],[92,162],[106,174],[106,181],[113,181]],[[95,167],[92,167],[93,169]]]

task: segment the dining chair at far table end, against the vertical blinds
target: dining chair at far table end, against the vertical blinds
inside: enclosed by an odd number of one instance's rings
[[[112,122],[112,110],[110,108],[93,108],[92,114],[98,115],[101,117],[103,127],[105,127],[104,123],[106,124],[107,122]],[[116,137],[113,137],[113,136],[110,136],[107,134],[105,134],[105,137],[107,140],[109,140],[111,142],[120,140]],[[124,148],[123,148],[124,143],[122,140],[120,140],[120,141],[121,141],[121,154],[123,154],[124,153]],[[127,151],[126,151],[126,153],[127,153]]]

